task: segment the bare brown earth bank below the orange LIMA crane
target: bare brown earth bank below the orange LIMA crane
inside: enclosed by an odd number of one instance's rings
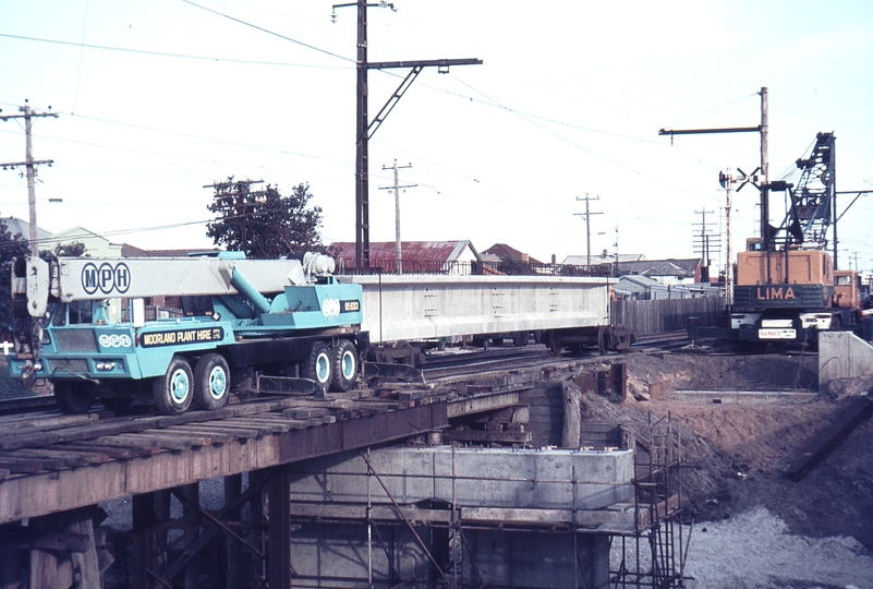
[[[815,390],[817,360],[811,356],[628,354],[629,387],[647,392],[656,382],[676,388]],[[682,489],[688,516],[723,520],[764,507],[793,534],[852,537],[873,551],[873,420],[862,423],[804,479],[784,469],[801,446],[866,382],[832,383],[813,400],[724,402],[638,400],[609,404],[585,397],[583,419],[610,420],[647,430],[669,417],[681,433]],[[640,395],[643,397],[644,395]]]

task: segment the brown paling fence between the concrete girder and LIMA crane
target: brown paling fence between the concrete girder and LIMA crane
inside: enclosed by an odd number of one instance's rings
[[[689,317],[700,317],[701,327],[714,327],[726,304],[725,297],[613,301],[611,323],[632,329],[636,337],[688,329]]]

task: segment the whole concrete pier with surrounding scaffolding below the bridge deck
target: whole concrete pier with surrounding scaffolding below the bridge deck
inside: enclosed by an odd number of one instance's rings
[[[643,453],[437,446],[293,465],[294,585],[675,587],[676,471],[652,432]]]

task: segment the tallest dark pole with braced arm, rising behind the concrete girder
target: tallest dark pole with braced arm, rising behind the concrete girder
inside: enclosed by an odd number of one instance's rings
[[[481,59],[434,59],[424,61],[367,61],[367,8],[389,8],[395,9],[392,3],[374,2],[367,3],[366,0],[356,0],[343,4],[334,4],[338,8],[357,8],[357,112],[355,119],[355,237],[354,256],[356,272],[369,269],[369,148],[368,142],[379,125],[388,117],[403,94],[409,89],[412,82],[421,73],[422,69],[436,67],[439,73],[448,73],[450,65],[472,65],[481,64]],[[368,86],[367,72],[369,70],[411,68],[407,77],[400,83],[378,115],[369,121],[368,115]]]

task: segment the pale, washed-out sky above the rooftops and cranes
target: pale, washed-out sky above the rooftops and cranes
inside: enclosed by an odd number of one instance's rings
[[[723,265],[718,173],[757,167],[759,134],[658,130],[756,127],[762,87],[771,180],[833,131],[837,190],[873,190],[872,0],[396,0],[367,21],[368,61],[483,60],[425,68],[373,135],[373,242],[395,239],[396,160],[403,240],[561,262],[587,253],[587,195],[592,253],[698,256],[706,212]],[[204,187],[234,177],[307,183],[325,243],[354,241],[355,56],[355,9],[322,0],[0,0],[0,115],[58,113],[34,119],[48,231],[211,247]],[[371,119],[407,73],[369,72]],[[23,122],[0,122],[0,163],[24,151]],[[733,194],[733,252],[757,203]],[[839,221],[839,267],[873,268],[872,212],[873,194]],[[0,169],[0,215],[27,219],[20,170]]]

